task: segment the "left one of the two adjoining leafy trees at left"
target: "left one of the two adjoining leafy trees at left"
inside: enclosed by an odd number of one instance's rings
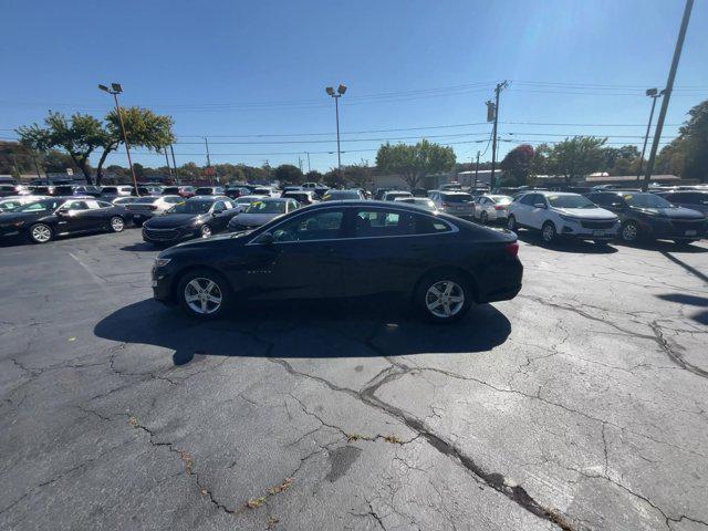
[[[22,126],[17,134],[30,149],[44,153],[53,147],[63,148],[84,174],[86,183],[93,184],[88,157],[107,142],[107,133],[98,119],[81,113],[66,118],[61,113],[50,111],[44,118],[44,127],[38,124]]]

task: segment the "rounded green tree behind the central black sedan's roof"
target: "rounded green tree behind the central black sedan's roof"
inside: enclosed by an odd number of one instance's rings
[[[415,146],[386,143],[376,154],[376,165],[381,170],[400,175],[410,189],[417,188],[428,174],[452,169],[455,160],[451,147],[425,138]]]

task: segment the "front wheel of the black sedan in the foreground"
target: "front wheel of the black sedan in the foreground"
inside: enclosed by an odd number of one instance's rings
[[[177,288],[179,305],[190,316],[200,320],[220,317],[228,308],[231,291],[226,279],[208,269],[190,271]]]

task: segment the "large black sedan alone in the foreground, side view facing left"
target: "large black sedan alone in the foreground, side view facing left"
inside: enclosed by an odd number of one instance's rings
[[[402,294],[444,323],[475,303],[513,299],[518,250],[511,232],[414,206],[330,201],[160,252],[153,291],[201,319],[236,300]]]

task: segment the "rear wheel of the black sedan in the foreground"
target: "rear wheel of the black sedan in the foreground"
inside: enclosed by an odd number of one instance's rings
[[[414,298],[423,316],[436,324],[459,321],[475,302],[467,279],[447,270],[426,274],[418,282]]]

